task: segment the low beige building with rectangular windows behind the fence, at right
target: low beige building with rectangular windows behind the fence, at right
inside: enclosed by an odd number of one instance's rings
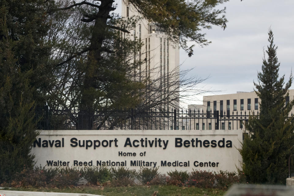
[[[286,104],[290,100],[294,99],[294,89],[289,90],[289,96],[286,97]],[[212,96],[203,96],[203,113],[201,106],[193,107],[189,105],[188,108],[191,110],[191,113],[195,113],[197,118],[191,119],[191,129],[195,130],[210,130],[215,129],[216,119],[209,118],[209,114],[213,114],[215,117],[218,111],[220,116],[220,121],[218,128],[231,130],[231,129],[242,129],[245,130],[246,118],[245,115],[258,115],[260,99],[253,92],[237,92],[234,94],[224,94],[224,95],[212,95]],[[294,114],[294,108],[290,112],[289,116]],[[195,127],[195,128],[194,128]]]

